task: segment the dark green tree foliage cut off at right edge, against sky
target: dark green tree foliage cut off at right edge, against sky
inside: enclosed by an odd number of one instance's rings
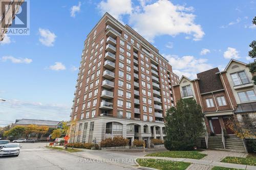
[[[256,25],[256,16],[253,18],[252,24]],[[251,58],[256,58],[256,41],[255,40],[252,41],[249,46],[252,49],[251,49],[251,51],[249,51],[248,55]],[[252,74],[253,83],[256,85],[256,61],[255,61],[255,59],[254,59],[254,62],[250,63],[249,68],[250,68],[250,72]]]

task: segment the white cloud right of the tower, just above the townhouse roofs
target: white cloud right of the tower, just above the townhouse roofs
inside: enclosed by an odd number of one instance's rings
[[[173,66],[173,71],[179,77],[182,75],[195,79],[198,72],[202,72],[212,68],[211,64],[207,63],[207,59],[197,59],[194,56],[178,57],[176,55],[164,55]]]

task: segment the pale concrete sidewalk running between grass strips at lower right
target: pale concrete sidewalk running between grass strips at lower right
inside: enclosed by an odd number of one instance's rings
[[[188,162],[193,164],[200,164],[200,165],[207,165],[207,166],[222,166],[228,168],[237,168],[237,169],[250,169],[256,170],[256,166],[250,165],[242,165],[242,164],[234,164],[234,163],[224,163],[220,161],[214,160],[202,160],[202,159],[189,159],[189,158],[167,158],[167,157],[139,157],[141,159],[164,159],[164,160],[172,160],[172,161],[181,161],[181,162]]]

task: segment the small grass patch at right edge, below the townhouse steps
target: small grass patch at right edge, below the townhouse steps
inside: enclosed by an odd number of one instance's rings
[[[222,159],[221,162],[237,163],[237,164],[256,166],[256,156],[255,155],[248,155],[246,158],[227,156],[224,159]]]

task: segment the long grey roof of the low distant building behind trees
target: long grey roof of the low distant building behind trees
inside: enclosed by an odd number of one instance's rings
[[[39,120],[39,119],[18,119],[15,124],[17,125],[44,125],[44,126],[57,126],[60,121],[53,120]]]

